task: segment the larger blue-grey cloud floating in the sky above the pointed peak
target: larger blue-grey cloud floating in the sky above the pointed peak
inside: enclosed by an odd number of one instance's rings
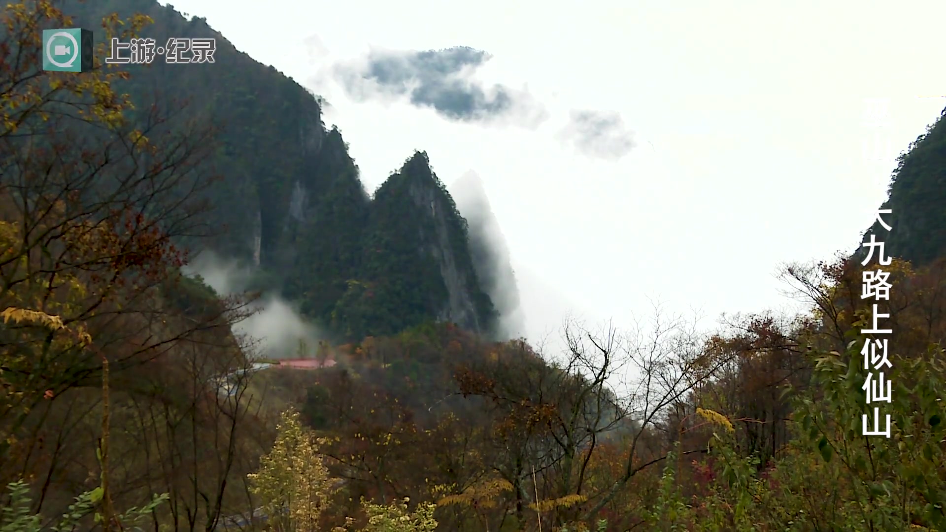
[[[474,78],[492,56],[455,46],[444,50],[373,49],[338,63],[334,75],[353,98],[407,97],[416,107],[462,122],[513,122],[535,127],[548,118],[544,106],[525,89],[487,84]]]

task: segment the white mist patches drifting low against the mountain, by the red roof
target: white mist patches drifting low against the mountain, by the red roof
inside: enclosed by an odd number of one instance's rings
[[[203,282],[221,296],[253,290],[254,273],[235,261],[205,251],[184,268],[185,275],[201,275]],[[314,353],[319,330],[309,324],[289,302],[275,293],[264,293],[254,302],[254,314],[237,323],[234,332],[259,343],[261,354],[270,358],[296,358],[300,341]]]

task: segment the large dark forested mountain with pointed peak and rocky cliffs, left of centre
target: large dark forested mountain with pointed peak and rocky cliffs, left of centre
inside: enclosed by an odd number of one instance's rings
[[[426,153],[410,157],[373,201],[342,133],[326,129],[321,99],[237,51],[205,20],[188,21],[153,0],[70,0],[63,11],[75,13],[79,27],[96,27],[111,11],[147,14],[153,24],[141,35],[158,43],[217,40],[214,64],[159,58],[129,66],[131,80],[119,85],[139,103],[183,105],[219,124],[208,165],[221,180],[204,193],[215,234],[186,241],[193,252],[209,249],[254,269],[251,288],[282,293],[349,341],[434,320],[497,332],[498,313],[478,276],[489,272],[474,268],[467,224]]]

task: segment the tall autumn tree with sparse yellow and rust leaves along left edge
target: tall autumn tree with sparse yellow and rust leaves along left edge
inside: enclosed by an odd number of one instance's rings
[[[184,107],[131,120],[115,89],[129,73],[101,64],[103,49],[91,72],[44,72],[42,30],[71,26],[55,2],[7,4],[0,18],[0,476],[42,480],[39,510],[48,488],[81,483],[76,465],[94,463],[87,419],[104,362],[120,400],[149,393],[134,368],[187,349],[229,353],[219,370],[232,371],[246,361],[230,326],[248,312],[236,298],[199,295],[199,309],[181,298],[179,244],[207,229],[212,129]],[[112,16],[102,31],[128,39],[148,23]]]

